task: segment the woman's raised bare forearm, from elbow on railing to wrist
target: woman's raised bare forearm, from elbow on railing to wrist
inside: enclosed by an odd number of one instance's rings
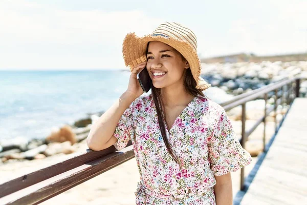
[[[87,146],[93,150],[101,150],[112,137],[119,119],[135,99],[123,93],[120,98],[92,126],[87,136]]]

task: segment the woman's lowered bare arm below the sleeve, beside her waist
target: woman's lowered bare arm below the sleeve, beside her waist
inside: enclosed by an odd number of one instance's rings
[[[227,180],[225,183],[216,183],[214,186],[216,205],[232,205],[232,183]]]

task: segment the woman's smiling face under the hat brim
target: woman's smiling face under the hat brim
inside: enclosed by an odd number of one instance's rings
[[[146,68],[156,88],[183,86],[184,70],[189,67],[177,50],[162,42],[149,42]]]

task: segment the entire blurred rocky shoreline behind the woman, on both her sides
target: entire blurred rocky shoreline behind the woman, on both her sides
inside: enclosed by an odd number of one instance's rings
[[[303,72],[307,72],[307,61],[293,61],[282,63],[277,61],[271,63],[263,61],[261,63],[233,63],[233,64],[202,64],[202,77],[212,85],[211,92],[217,94],[214,87],[220,88],[230,98],[250,92],[254,89],[266,86],[275,81],[289,78]],[[216,88],[215,88],[216,89]],[[208,89],[209,90],[209,89]],[[214,94],[211,94],[214,98]],[[210,96],[211,96],[210,95]],[[300,96],[307,97],[307,81],[301,83]],[[211,97],[210,97],[211,98]],[[227,100],[227,98],[225,98]],[[213,99],[214,100],[214,99]],[[221,103],[221,102],[217,102]],[[274,103],[274,96],[268,101],[269,105]],[[281,105],[277,108],[277,113],[270,113],[268,121],[277,121],[286,113],[289,106]],[[262,116],[264,110],[264,100],[258,99],[247,104],[247,119],[256,120]],[[103,112],[89,114],[87,118],[79,119],[73,125],[65,125],[57,130],[52,130],[51,134],[41,139],[15,138],[0,141],[0,163],[11,161],[24,161],[32,159],[42,159],[57,154],[70,154],[77,152],[82,144],[84,148],[85,138],[90,132],[91,125],[103,114]],[[233,120],[240,120],[240,107],[228,112]],[[240,135],[240,126],[234,123],[235,129]],[[252,140],[251,140],[252,141]],[[259,141],[257,142],[260,143]],[[247,145],[248,146],[248,145]],[[247,150],[256,156],[260,151],[258,146],[251,145]],[[256,148],[255,148],[256,147]]]

